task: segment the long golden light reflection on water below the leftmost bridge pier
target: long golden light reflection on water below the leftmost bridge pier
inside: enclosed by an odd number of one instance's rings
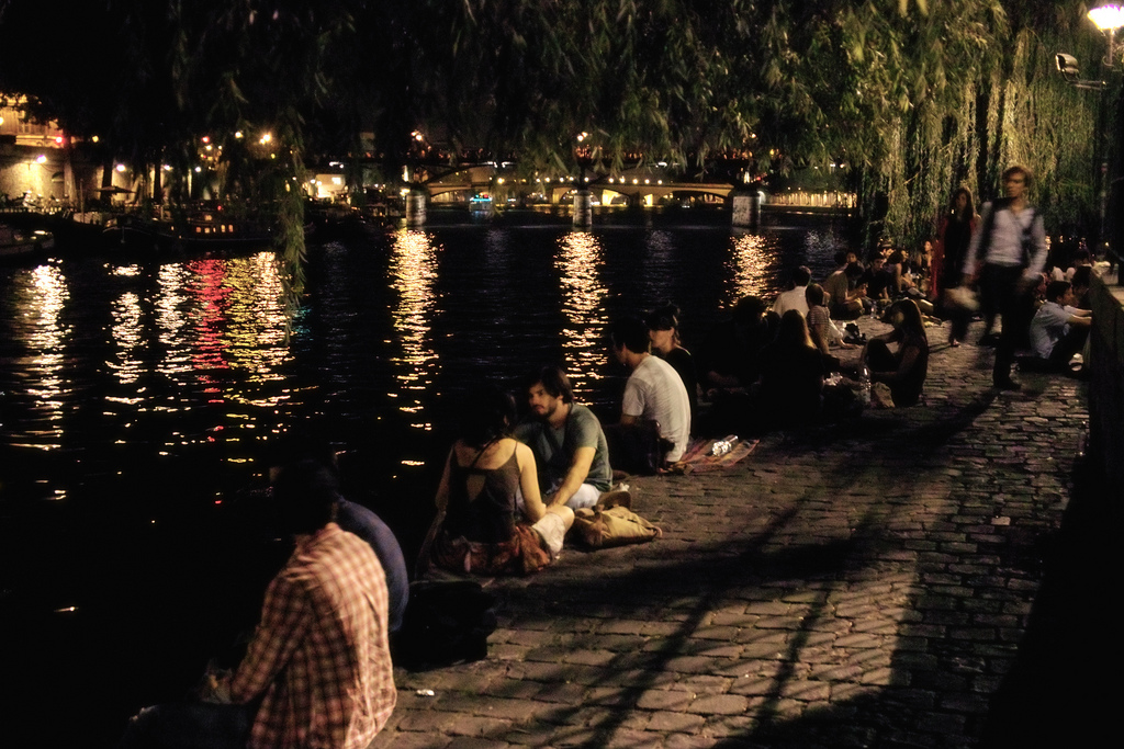
[[[439,369],[429,341],[437,280],[437,247],[432,238],[424,231],[399,231],[391,246],[389,273],[398,292],[391,319],[401,350],[391,356],[400,392],[389,395],[399,399],[398,408],[415,419],[411,427],[429,429],[430,423],[425,419],[425,394]]]

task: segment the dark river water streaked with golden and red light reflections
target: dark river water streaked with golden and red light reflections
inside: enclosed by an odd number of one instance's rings
[[[807,227],[387,231],[311,247],[296,313],[266,252],[0,267],[0,621],[11,673],[34,674],[27,715],[62,704],[83,727],[71,739],[112,736],[253,623],[283,545],[247,490],[284,431],[316,423],[348,450],[348,493],[409,557],[468,386],[560,362],[611,419],[625,373],[609,320],[673,301],[690,348],[795,266],[824,277],[837,241]]]

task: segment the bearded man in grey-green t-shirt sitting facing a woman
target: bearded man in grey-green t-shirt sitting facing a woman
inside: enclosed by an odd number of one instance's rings
[[[560,367],[531,375],[526,394],[531,414],[515,428],[515,437],[535,456],[546,506],[578,510],[597,504],[613,481],[601,422],[574,402],[570,380]]]

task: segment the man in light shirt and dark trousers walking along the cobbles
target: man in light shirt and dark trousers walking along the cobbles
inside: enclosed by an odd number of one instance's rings
[[[1046,261],[1042,217],[1026,202],[1031,173],[1012,166],[1003,173],[1005,198],[984,207],[980,230],[972,236],[964,275],[978,280],[982,307],[1003,317],[991,382],[999,390],[1018,390],[1010,377],[1015,350],[1033,314],[1031,291]]]

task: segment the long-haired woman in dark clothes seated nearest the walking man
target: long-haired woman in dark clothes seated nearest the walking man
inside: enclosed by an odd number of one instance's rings
[[[885,319],[894,326],[894,330],[871,339],[863,351],[870,367],[870,381],[889,385],[895,405],[913,405],[921,399],[928,373],[925,323],[912,299],[891,304]],[[890,351],[888,344],[897,344],[897,351]]]

